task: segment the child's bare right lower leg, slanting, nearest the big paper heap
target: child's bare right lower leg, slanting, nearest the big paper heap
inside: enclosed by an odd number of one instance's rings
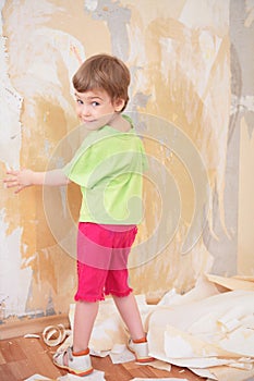
[[[129,329],[132,340],[144,337],[145,332],[135,296],[131,293],[128,296],[118,297],[112,295],[112,297],[124,323]]]

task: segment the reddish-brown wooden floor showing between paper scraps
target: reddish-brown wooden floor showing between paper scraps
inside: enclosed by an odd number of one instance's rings
[[[56,347],[48,347],[41,339],[15,337],[0,341],[0,380],[20,381],[33,374],[57,379],[66,372],[53,366],[51,357]],[[135,361],[113,365],[109,356],[92,357],[95,369],[105,372],[107,381],[129,381],[133,378],[180,378],[189,381],[204,380],[189,369],[172,367],[171,371],[141,366]],[[85,378],[84,378],[85,380]]]

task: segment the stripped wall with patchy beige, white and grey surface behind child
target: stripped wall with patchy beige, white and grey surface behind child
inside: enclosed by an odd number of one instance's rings
[[[44,171],[71,158],[82,133],[71,77],[81,60],[117,54],[132,73],[128,112],[150,164],[145,219],[130,258],[135,292],[149,298],[172,286],[184,292],[206,271],[253,275],[252,2],[2,0],[0,7],[1,177],[9,168]],[[68,311],[78,189],[13,195],[1,186],[0,193],[0,318]]]

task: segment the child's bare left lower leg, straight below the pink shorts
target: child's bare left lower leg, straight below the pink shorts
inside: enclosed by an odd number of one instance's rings
[[[73,352],[81,352],[88,348],[98,307],[99,302],[78,300],[76,303],[73,328]]]

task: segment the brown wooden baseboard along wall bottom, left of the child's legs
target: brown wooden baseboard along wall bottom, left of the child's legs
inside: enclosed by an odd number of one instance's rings
[[[63,324],[70,328],[68,314],[53,315],[44,318],[27,318],[25,320],[7,321],[0,324],[0,340],[24,336],[27,333],[41,333],[48,325]]]

